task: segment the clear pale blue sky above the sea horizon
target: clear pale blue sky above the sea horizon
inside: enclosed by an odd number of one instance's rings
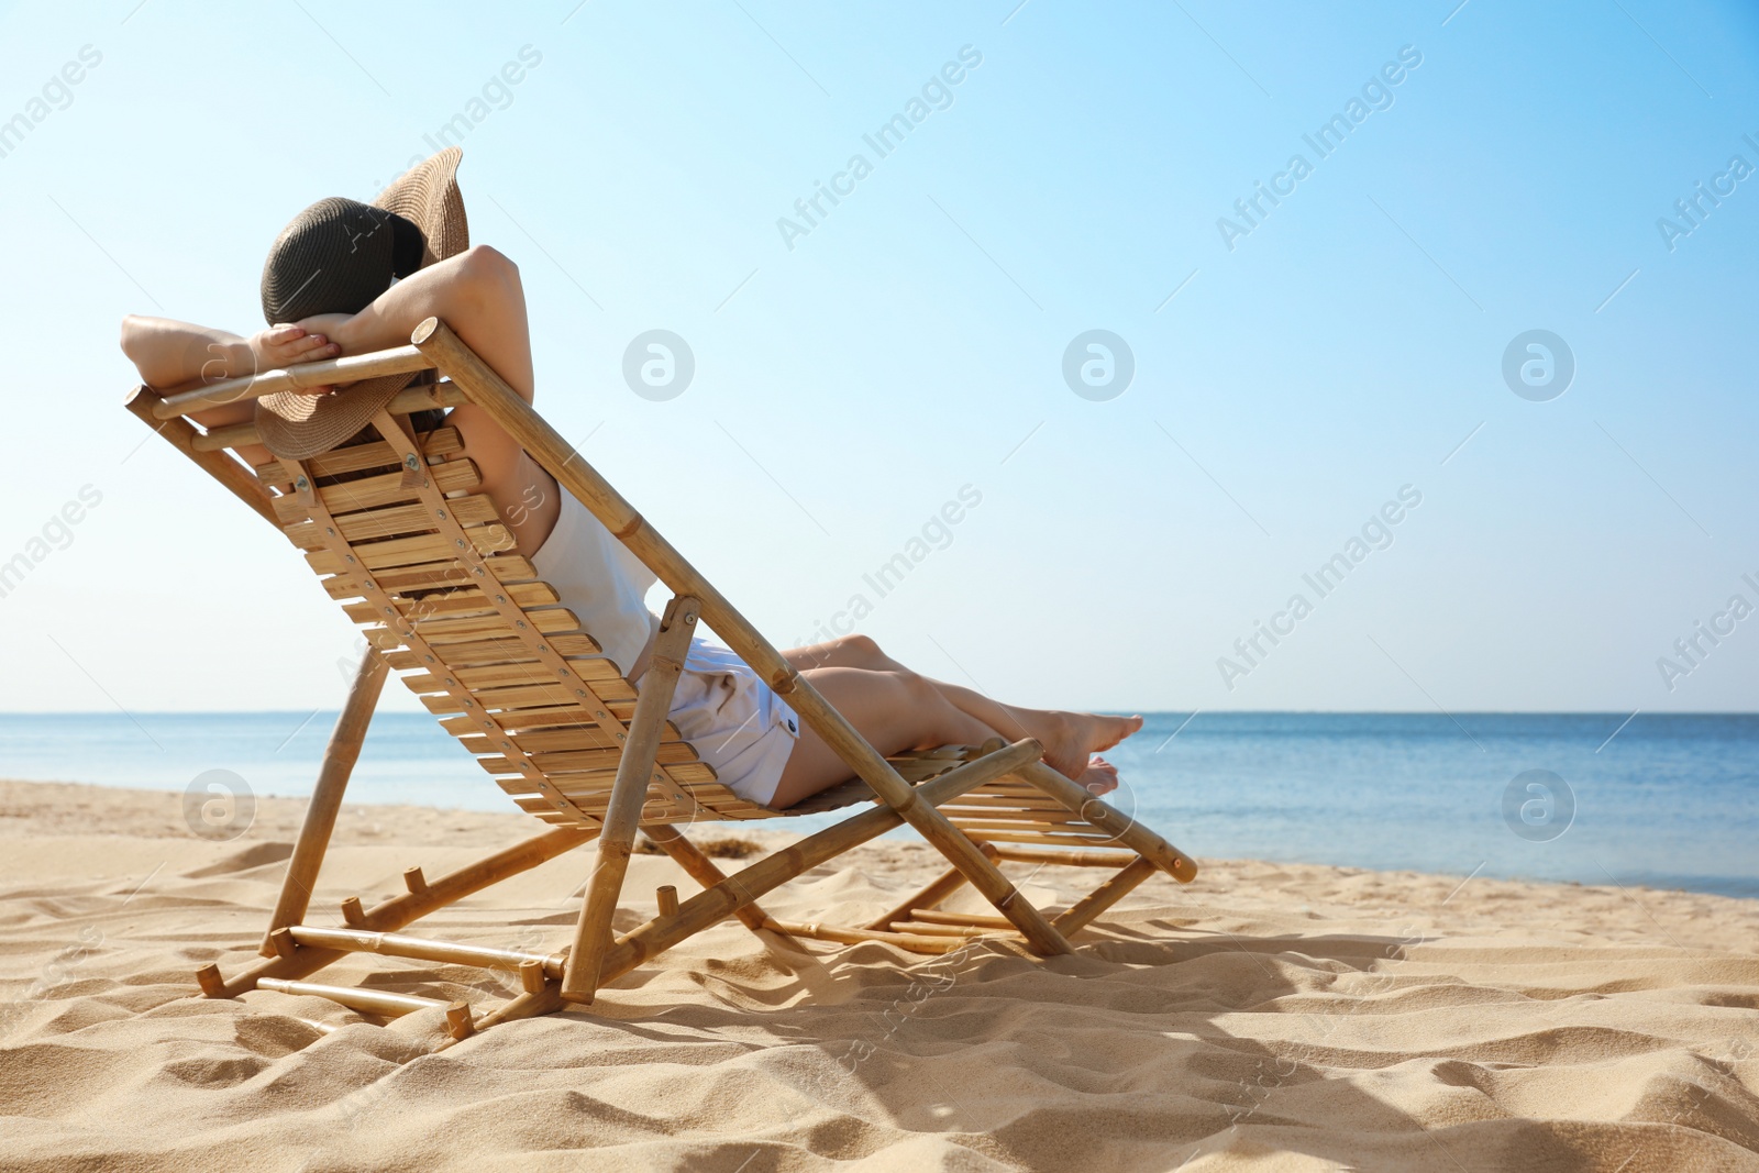
[[[0,118],[30,121],[0,135],[0,561],[102,494],[0,598],[0,710],[338,702],[350,624],[137,447],[116,324],[260,325],[276,230],[456,114],[540,408],[777,642],[864,594],[901,658],[1033,703],[1755,707],[1759,616],[1671,691],[1657,668],[1759,605],[1759,174],[1657,229],[1759,167],[1750,5],[1015,4],[0,5]],[[881,158],[864,134],[964,46]],[[1321,158],[1303,135],[1407,46]],[[857,153],[790,248],[777,218]],[[1293,155],[1230,250],[1217,220]],[[695,353],[675,399],[623,382],[647,329]],[[1135,359],[1105,401],[1062,376],[1092,329]],[[1504,382],[1530,329],[1574,355],[1560,397]],[[880,598],[864,575],[966,485]],[[1321,598],[1303,573],[1404,485],[1393,543]]]

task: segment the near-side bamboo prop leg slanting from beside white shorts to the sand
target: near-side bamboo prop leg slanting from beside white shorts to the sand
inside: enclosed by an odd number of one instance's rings
[[[580,920],[573,930],[573,948],[568,951],[568,967],[561,980],[561,995],[570,1002],[591,1002],[598,990],[600,964],[610,948],[610,918],[617,911],[623,878],[635,849],[647,783],[660,753],[660,733],[672,710],[672,693],[684,670],[684,654],[690,651],[690,637],[700,610],[695,598],[679,596],[667,605],[660,621],[660,638],[654,640],[640,696],[635,698],[635,718],[630,721],[628,740],[623,742],[617,777],[610,784],[605,827],[598,834],[598,860],[586,888],[586,900],[580,902]]]

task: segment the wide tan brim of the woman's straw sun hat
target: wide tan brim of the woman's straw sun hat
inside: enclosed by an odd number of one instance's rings
[[[457,165],[464,151],[449,146],[378,193],[373,208],[392,211],[422,230],[422,266],[427,267],[470,248],[464,195],[457,188]],[[385,375],[352,383],[327,396],[280,390],[257,399],[257,434],[274,455],[303,461],[329,452],[366,427],[410,375]]]

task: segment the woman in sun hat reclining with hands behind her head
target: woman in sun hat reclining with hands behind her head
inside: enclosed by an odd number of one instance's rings
[[[331,199],[301,213],[276,239],[264,269],[264,317],[280,325],[239,338],[165,318],[125,318],[121,348],[141,380],[160,392],[185,390],[401,346],[417,324],[436,317],[529,403],[535,380],[519,269],[493,248],[468,246],[457,160],[457,148],[436,155],[371,206]],[[408,378],[285,392],[195,419],[220,427],[255,412],[269,448],[241,447],[245,461],[259,466],[273,455],[306,457],[347,443]],[[331,406],[338,412],[325,417]],[[482,492],[505,519],[517,552],[556,587],[623,675],[639,682],[660,626],[644,603],[653,572],[480,408],[454,408],[447,424],[463,436],[463,455],[475,461]],[[785,656],[881,754],[1034,737],[1052,769],[1101,795],[1117,786],[1117,770],[1092,754],[1142,728],[1142,718],[1020,709],[931,681],[865,635]],[[769,684],[734,652],[702,638],[684,661],[670,716],[719,781],[760,805],[783,809],[848,779],[843,760],[800,726]]]

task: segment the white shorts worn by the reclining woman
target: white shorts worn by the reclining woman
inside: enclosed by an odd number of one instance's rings
[[[693,638],[672,695],[672,725],[721,784],[767,807],[800,739],[800,719],[730,649]]]

